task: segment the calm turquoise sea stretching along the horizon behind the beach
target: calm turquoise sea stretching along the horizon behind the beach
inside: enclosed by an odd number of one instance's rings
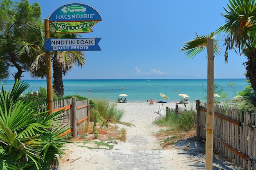
[[[22,81],[30,85],[25,93],[47,87],[46,79]],[[233,99],[249,85],[246,79],[215,79],[214,83],[218,89],[222,89],[222,93],[226,93],[228,99]],[[5,91],[11,91],[14,80],[2,80],[1,84]],[[189,102],[195,102],[196,99],[207,102],[207,79],[63,79],[63,85],[64,96],[81,95],[110,102],[116,102],[120,94],[126,94],[128,102],[146,102],[151,98],[179,102],[184,99],[179,96],[181,93],[189,96]],[[161,97],[160,93],[168,96],[168,99]]]

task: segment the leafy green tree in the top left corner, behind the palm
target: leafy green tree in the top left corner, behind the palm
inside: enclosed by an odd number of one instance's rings
[[[32,5],[28,0],[13,3],[11,0],[0,0],[0,56],[9,66],[17,68],[14,79],[20,79],[26,64],[16,55],[16,46],[13,41],[18,39],[29,40],[32,37],[25,30],[28,21],[40,21],[41,9],[37,2]]]

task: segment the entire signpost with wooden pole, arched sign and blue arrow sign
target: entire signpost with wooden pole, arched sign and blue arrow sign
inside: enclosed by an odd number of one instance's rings
[[[45,60],[47,80],[47,110],[53,112],[51,51],[101,51],[101,38],[50,39],[49,22],[56,33],[90,33],[92,26],[100,22],[101,15],[86,4],[66,4],[45,19]]]

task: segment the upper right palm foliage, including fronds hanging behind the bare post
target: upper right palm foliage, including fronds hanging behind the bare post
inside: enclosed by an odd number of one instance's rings
[[[208,36],[198,36],[185,42],[180,51],[186,51],[185,55],[188,58],[193,58],[195,55],[207,48],[207,40],[213,39],[218,33],[225,33],[226,46],[224,58],[227,64],[228,52],[235,50],[240,55],[247,56],[247,62],[243,63],[247,70],[246,77],[249,78],[254,93],[256,93],[256,2],[255,0],[229,0],[228,9],[225,9],[227,14],[222,14],[225,17],[225,24],[220,26],[216,33],[211,33]],[[216,39],[213,39],[214,53],[219,54],[220,48],[216,46]],[[250,97],[254,107],[256,107],[256,98]]]

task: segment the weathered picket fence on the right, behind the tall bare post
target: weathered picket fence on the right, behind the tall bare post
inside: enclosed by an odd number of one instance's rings
[[[206,139],[207,103],[196,100],[197,135]],[[222,106],[214,107],[213,149],[245,170],[256,170],[256,117]]]

